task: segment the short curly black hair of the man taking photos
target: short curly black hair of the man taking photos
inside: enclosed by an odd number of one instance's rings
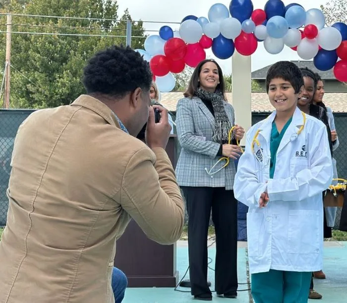
[[[140,87],[149,92],[152,73],[147,61],[130,47],[112,46],[96,53],[84,68],[87,94],[106,94],[117,99]]]

